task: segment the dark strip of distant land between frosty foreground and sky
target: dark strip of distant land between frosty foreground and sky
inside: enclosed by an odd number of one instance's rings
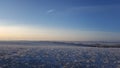
[[[120,48],[120,44],[104,45],[104,44],[82,44],[74,42],[58,42],[58,41],[0,41],[0,45],[66,45],[66,46],[82,46],[82,47],[98,47],[98,48]]]

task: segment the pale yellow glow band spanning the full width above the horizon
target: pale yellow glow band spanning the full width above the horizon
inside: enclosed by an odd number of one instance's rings
[[[120,40],[120,33],[62,30],[27,26],[0,26],[0,40]]]

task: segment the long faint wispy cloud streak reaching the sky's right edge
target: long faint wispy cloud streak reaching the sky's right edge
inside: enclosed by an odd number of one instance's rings
[[[63,10],[63,14],[93,13],[119,9],[120,5],[74,6]]]

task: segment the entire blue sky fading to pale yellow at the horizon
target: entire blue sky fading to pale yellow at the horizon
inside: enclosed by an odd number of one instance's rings
[[[120,0],[0,0],[0,40],[120,41]]]

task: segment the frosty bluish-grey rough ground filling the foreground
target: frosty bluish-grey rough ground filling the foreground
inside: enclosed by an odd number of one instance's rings
[[[0,45],[0,68],[120,68],[120,49]]]

